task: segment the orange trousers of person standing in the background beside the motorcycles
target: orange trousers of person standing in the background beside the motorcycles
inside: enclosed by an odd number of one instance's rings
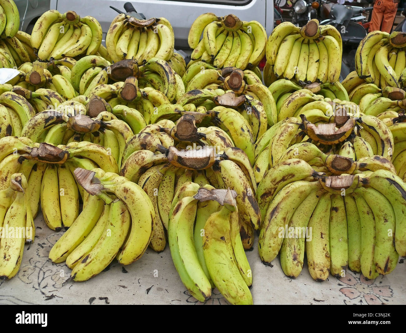
[[[391,33],[396,11],[397,2],[393,0],[376,0],[368,31],[381,30]]]

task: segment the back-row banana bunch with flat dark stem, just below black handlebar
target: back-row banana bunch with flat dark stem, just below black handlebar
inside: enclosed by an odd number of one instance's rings
[[[141,65],[151,58],[169,60],[174,46],[173,28],[164,17],[139,20],[119,14],[106,35],[106,48],[114,62],[135,59]]]

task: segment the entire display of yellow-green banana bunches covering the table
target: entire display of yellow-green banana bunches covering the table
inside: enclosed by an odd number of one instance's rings
[[[267,42],[256,21],[200,15],[186,64],[164,18],[117,15],[105,48],[93,17],[48,11],[30,36],[4,12],[0,63],[20,74],[0,85],[0,226],[34,228],[41,209],[67,229],[49,258],[72,280],[168,242],[195,298],[252,304],[255,230],[290,277],[305,251],[317,281],[406,256],[402,33],[368,34],[340,83],[340,34],[317,20]],[[0,279],[33,237],[1,238]]]

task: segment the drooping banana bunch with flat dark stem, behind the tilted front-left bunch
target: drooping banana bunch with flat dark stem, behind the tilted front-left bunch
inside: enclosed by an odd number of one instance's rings
[[[47,137],[60,136],[53,128],[51,132]],[[78,215],[80,198],[86,201],[82,187],[73,177],[75,168],[102,167],[109,172],[119,171],[109,149],[87,141],[56,146],[10,136],[0,139],[0,147],[0,189],[10,185],[12,174],[24,174],[32,215],[37,215],[41,202],[45,223],[56,231],[69,227]]]

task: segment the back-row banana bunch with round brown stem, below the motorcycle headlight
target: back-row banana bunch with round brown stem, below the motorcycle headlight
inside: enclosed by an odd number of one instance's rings
[[[319,25],[316,19],[302,28],[283,22],[266,44],[265,82],[270,85],[275,78],[295,79],[301,84],[336,82],[342,49],[341,35],[331,25]]]

